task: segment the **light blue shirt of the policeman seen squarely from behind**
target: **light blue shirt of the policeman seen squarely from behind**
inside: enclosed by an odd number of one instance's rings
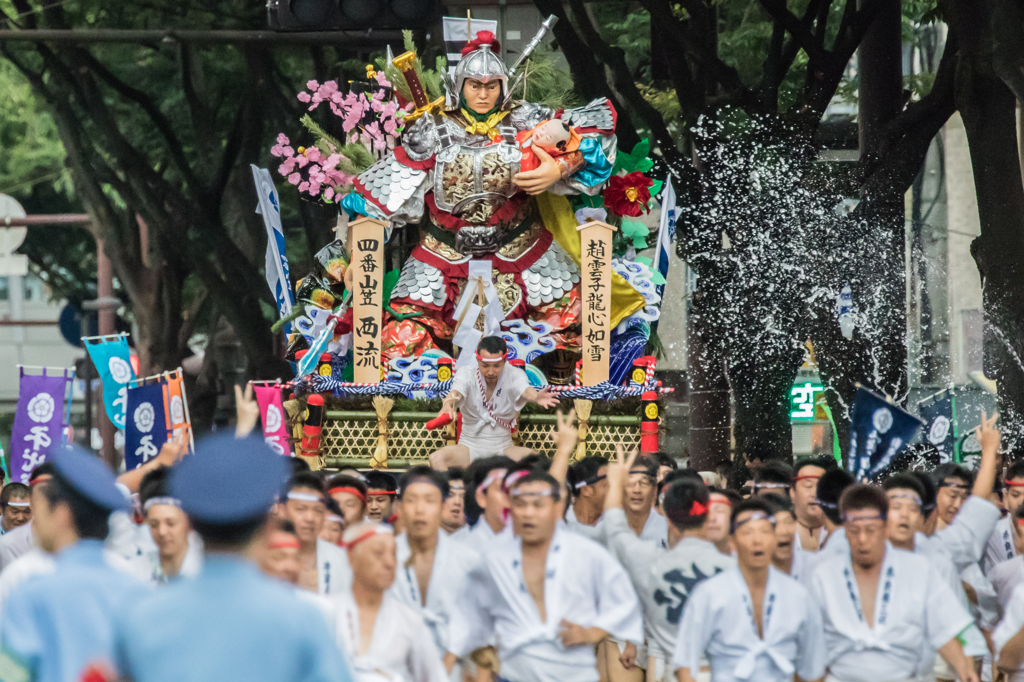
[[[241,557],[157,590],[119,622],[118,665],[134,682],[352,682],[319,610]]]

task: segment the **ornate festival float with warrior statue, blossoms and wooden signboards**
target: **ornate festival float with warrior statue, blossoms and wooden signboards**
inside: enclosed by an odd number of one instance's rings
[[[552,386],[575,410],[577,457],[657,450],[658,396],[670,389],[654,380],[649,349],[665,280],[636,256],[648,229],[634,219],[662,183],[646,174],[646,140],[617,148],[607,99],[516,98],[543,72],[530,56],[554,22],[511,68],[489,32],[451,74],[443,56],[425,69],[407,34],[406,51],[389,48],[366,80],[309,81],[298,93],[305,131],[294,146],[280,134],[271,154],[303,200],[337,207],[339,226],[294,291],[283,286],[278,195],[253,168],[275,329],[296,367],[287,384],[254,382],[279,452],[314,469],[426,462],[457,437],[458,423],[434,418],[453,373],[488,335],[506,340],[534,386]],[[498,83],[493,106],[477,111],[477,94],[467,101],[470,82]],[[513,182],[541,167],[556,179],[523,183],[536,194]],[[555,415],[531,407],[513,439],[550,452]]]

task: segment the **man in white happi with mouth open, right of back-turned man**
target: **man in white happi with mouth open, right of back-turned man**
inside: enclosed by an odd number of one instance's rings
[[[804,586],[772,565],[774,506],[744,500],[731,526],[738,565],[703,581],[687,599],[672,656],[676,679],[693,682],[705,656],[714,682],[819,679],[821,612]]]

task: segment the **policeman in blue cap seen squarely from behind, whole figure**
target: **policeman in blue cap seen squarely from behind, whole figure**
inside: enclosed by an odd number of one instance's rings
[[[261,439],[214,436],[174,467],[169,493],[206,547],[200,574],[119,620],[117,662],[134,682],[352,682],[319,610],[248,557],[290,474]]]

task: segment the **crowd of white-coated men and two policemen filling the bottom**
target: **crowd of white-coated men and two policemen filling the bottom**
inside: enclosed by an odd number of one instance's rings
[[[994,419],[975,472],[732,485],[572,461],[572,424],[551,458],[399,475],[224,435],[119,478],[54,451],[0,494],[0,680],[1024,680],[1024,462]]]

